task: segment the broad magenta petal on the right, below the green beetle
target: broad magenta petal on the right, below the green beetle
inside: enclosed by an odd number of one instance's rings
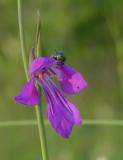
[[[53,68],[61,84],[63,91],[67,94],[78,94],[88,87],[83,76],[70,66],[60,66]]]

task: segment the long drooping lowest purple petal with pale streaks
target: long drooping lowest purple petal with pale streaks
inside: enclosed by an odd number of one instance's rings
[[[63,96],[50,78],[39,83],[46,95],[48,119],[52,127],[63,138],[69,138],[73,126],[81,123],[79,111]]]

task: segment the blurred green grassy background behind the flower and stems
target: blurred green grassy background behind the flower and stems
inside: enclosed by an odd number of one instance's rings
[[[123,118],[123,1],[23,0],[27,51],[34,46],[36,12],[42,15],[43,54],[64,51],[67,63],[89,83],[69,97],[83,119]],[[13,97],[26,83],[16,0],[0,0],[0,121],[36,119],[35,110]],[[44,117],[46,118],[46,106]],[[123,127],[76,127],[69,140],[46,126],[51,160],[123,160]],[[36,126],[0,127],[1,160],[40,160]]]

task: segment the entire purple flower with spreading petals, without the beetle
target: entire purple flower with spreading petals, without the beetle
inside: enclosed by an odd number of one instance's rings
[[[29,82],[15,97],[15,101],[29,107],[39,104],[40,96],[37,89],[37,85],[39,85],[46,97],[48,119],[52,127],[62,137],[68,138],[73,126],[81,124],[81,116],[78,109],[67,100],[51,78],[57,77],[62,90],[71,95],[80,93],[87,88],[87,82],[78,71],[70,66],[60,65],[52,57],[34,59],[29,69],[29,75]]]

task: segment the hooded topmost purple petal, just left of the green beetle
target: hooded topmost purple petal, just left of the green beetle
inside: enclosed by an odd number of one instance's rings
[[[36,58],[33,60],[30,69],[29,74],[30,76],[34,75],[37,72],[40,72],[42,69],[49,67],[51,65],[55,65],[58,62],[50,57],[47,58]]]

